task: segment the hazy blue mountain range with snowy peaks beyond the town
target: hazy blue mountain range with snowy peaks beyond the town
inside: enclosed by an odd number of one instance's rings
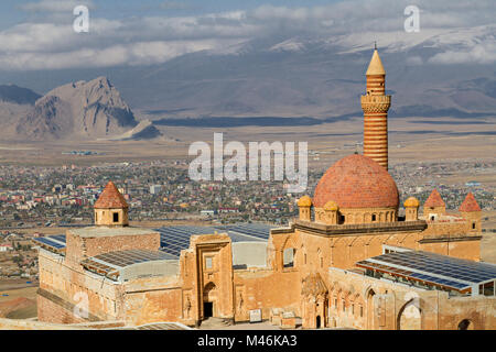
[[[279,36],[153,66],[24,75],[35,80],[4,74],[4,79],[48,92],[41,97],[0,86],[0,123],[15,125],[12,135],[43,140],[128,139],[142,128],[141,135],[155,138],[154,125],[194,125],[198,118],[224,125],[231,118],[272,118],[284,124],[293,117],[348,119],[362,114],[359,96],[375,41],[392,95],[391,118],[494,118],[495,33],[496,25],[483,25],[398,35]],[[93,77],[99,78],[66,84]],[[153,123],[131,132],[143,119]]]

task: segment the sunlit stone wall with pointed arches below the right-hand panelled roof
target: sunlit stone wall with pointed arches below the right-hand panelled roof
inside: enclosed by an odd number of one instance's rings
[[[444,292],[423,290],[337,268],[330,268],[327,278],[332,283],[331,327],[457,330],[466,319],[476,330],[496,328],[496,297],[450,297]]]

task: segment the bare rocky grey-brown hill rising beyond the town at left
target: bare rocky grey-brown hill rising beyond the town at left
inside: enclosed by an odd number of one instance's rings
[[[61,86],[36,100],[17,124],[34,140],[93,140],[125,133],[138,124],[129,106],[106,77]]]

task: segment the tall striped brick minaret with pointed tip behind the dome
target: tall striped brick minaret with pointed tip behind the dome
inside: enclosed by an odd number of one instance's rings
[[[386,70],[377,47],[368,65],[367,94],[362,96],[364,110],[364,155],[388,169],[388,110],[391,96],[386,96]]]

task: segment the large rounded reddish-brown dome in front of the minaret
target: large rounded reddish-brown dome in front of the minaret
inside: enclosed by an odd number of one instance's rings
[[[316,208],[330,200],[342,209],[398,208],[398,187],[378,163],[353,154],[331,166],[315,187],[313,205]]]

